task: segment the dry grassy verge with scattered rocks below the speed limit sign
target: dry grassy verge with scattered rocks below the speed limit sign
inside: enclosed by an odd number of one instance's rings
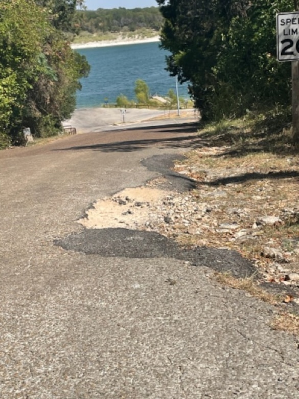
[[[290,123],[279,114],[222,121],[199,130],[198,138],[197,148],[176,170],[187,171],[197,181],[192,195],[198,203],[209,204],[213,211],[202,220],[201,235],[181,235],[180,242],[186,246],[237,250],[255,263],[263,281],[273,284],[282,283],[282,269],[299,273],[299,156],[291,145]],[[254,228],[263,216],[277,216],[281,223]],[[236,223],[238,229],[223,232],[219,226],[225,223]],[[236,233],[240,231],[254,232],[254,239],[238,238]],[[284,261],[265,256],[265,247],[278,249]],[[280,269],[273,267],[275,262],[281,263]],[[240,280],[221,273],[215,277],[264,302],[283,302],[282,297],[265,292],[251,278]],[[284,288],[288,289],[285,285]],[[279,312],[272,327],[299,334],[299,317],[285,308]]]

